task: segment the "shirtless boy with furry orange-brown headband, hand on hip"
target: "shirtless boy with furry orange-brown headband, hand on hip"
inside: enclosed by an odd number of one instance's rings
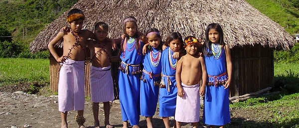
[[[84,64],[86,58],[87,39],[96,39],[93,32],[83,29],[85,16],[80,9],[72,9],[68,12],[66,21],[70,30],[59,32],[48,44],[49,51],[60,63],[58,83],[58,110],[61,115],[61,128],[68,128],[68,111],[78,111],[76,122],[78,128],[85,128],[83,117],[84,112]],[[54,46],[63,41],[63,54],[58,55]]]

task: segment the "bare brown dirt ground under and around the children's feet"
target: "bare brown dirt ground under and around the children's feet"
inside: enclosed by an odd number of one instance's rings
[[[47,89],[41,90],[38,94],[26,94],[17,91],[24,91],[28,85],[13,85],[0,87],[0,128],[60,128],[60,112],[58,112],[58,98],[56,95],[43,96]],[[42,95],[42,96],[41,96]],[[104,127],[103,104],[100,104],[99,120],[100,127]],[[115,100],[111,107],[110,124],[115,128],[122,128],[122,117],[119,100]],[[202,110],[201,110],[202,112]],[[251,112],[234,111],[231,118],[241,120],[255,120]],[[76,112],[68,114],[69,128],[77,128],[74,118]],[[92,102],[86,99],[84,117],[85,126],[93,128]],[[202,113],[201,113],[202,117]],[[245,118],[245,119],[244,119]],[[202,119],[202,118],[201,118]],[[156,128],[164,128],[162,119],[158,116],[158,109],[153,116],[153,124]],[[15,126],[15,127],[14,127]],[[171,124],[173,126],[173,124]],[[183,124],[182,128],[190,128],[191,124]],[[140,127],[146,128],[146,120],[140,118]],[[204,128],[202,121],[199,128]]]

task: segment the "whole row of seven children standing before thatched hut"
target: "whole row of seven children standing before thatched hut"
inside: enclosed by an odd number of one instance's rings
[[[81,29],[84,18],[81,10],[72,9],[67,16],[70,30],[59,32],[48,44],[51,54],[61,64],[58,84],[61,128],[67,128],[67,112],[71,110],[78,111],[78,128],[85,128],[86,46],[91,51],[91,101],[96,128],[99,128],[99,102],[104,103],[106,128],[113,128],[109,124],[109,101],[114,99],[112,61],[121,62],[118,84],[123,128],[128,128],[129,123],[139,128],[140,116],[146,117],[147,128],[153,128],[151,120],[157,102],[165,128],[170,128],[169,117],[176,121],[174,128],[180,128],[182,122],[197,128],[200,96],[204,96],[204,124],[223,128],[230,122],[228,87],[232,63],[218,23],[207,26],[203,44],[194,36],[183,40],[179,32],[170,33],[162,42],[159,30],[151,28],[144,35],[138,31],[136,18],[129,16],[123,21],[123,39],[115,41],[107,38],[108,25],[104,22],[95,25],[95,33]],[[61,57],[54,49],[60,40],[63,40]],[[118,42],[119,55],[111,56],[112,47]]]

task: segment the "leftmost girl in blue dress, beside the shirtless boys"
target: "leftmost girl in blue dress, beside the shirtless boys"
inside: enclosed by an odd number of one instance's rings
[[[121,43],[118,81],[123,128],[128,128],[128,120],[133,128],[139,128],[142,48],[147,40],[139,35],[135,17],[129,16],[123,23],[125,39]]]

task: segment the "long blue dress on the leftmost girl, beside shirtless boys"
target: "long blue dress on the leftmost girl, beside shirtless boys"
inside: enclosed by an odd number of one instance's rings
[[[132,38],[130,38],[132,39]],[[136,44],[140,43],[138,50]],[[139,41],[124,42],[125,51],[120,58],[122,60],[119,70],[119,97],[123,121],[130,121],[131,125],[139,125],[140,112],[140,74],[142,61],[142,48],[144,43]]]

